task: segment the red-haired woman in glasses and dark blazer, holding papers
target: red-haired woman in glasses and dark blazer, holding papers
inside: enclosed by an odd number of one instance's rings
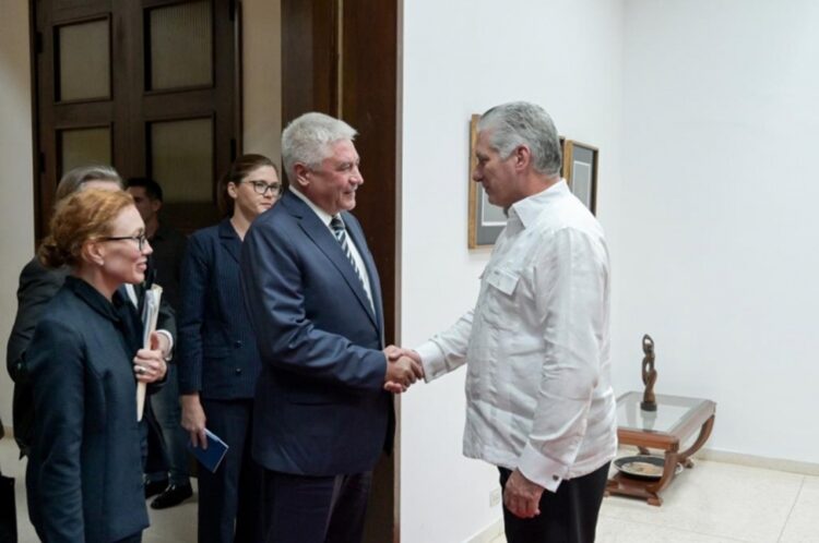
[[[136,382],[167,367],[158,350],[131,357],[133,330],[118,312],[130,303],[118,289],[144,279],[144,228],[130,195],[87,189],[58,203],[39,249],[44,265],[71,268],[25,354],[35,411],[28,510],[49,543],[138,542],[149,523]]]

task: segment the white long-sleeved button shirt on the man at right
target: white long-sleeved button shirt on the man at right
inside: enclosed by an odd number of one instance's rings
[[[416,350],[426,379],[468,362],[463,452],[555,492],[615,457],[608,250],[565,181],[510,207],[475,309]]]

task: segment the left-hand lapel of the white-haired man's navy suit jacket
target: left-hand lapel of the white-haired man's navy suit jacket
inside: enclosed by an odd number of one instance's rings
[[[322,253],[324,253],[330,262],[333,263],[333,266],[342,275],[347,286],[351,288],[351,290],[353,290],[353,293],[355,293],[356,298],[358,299],[358,303],[360,303],[361,307],[367,312],[367,315],[370,317],[370,321],[372,321],[372,324],[380,329],[377,316],[372,314],[372,309],[370,307],[370,302],[367,299],[367,293],[364,291],[364,286],[361,286],[361,281],[358,279],[355,269],[353,269],[353,265],[347,260],[344,251],[342,251],[339,241],[330,232],[330,228],[327,225],[322,224],[319,217],[313,213],[313,210],[310,209],[307,204],[301,202],[298,196],[286,193],[282,198],[280,205],[284,205],[292,215],[299,218],[299,226],[305,231],[307,237],[310,238],[310,240],[319,248]],[[356,246],[359,246],[357,242]],[[369,274],[369,269],[367,273]]]

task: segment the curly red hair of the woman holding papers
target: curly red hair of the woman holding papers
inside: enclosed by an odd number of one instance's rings
[[[51,268],[79,264],[83,243],[109,236],[114,219],[130,205],[133,198],[127,192],[104,189],[87,189],[60,200],[51,231],[37,250],[39,262]]]

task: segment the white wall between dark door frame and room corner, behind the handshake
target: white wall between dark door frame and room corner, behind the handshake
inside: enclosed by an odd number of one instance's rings
[[[620,182],[621,11],[610,0],[404,2],[402,341],[470,309],[488,251],[466,249],[468,120],[514,99],[601,148],[600,216]],[[463,370],[402,400],[401,541],[465,541],[500,517],[497,470],[461,456]]]

